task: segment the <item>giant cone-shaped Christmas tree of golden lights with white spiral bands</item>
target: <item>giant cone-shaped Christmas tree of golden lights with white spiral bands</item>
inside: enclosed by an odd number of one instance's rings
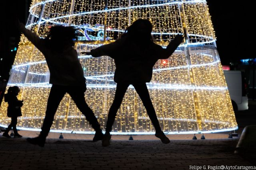
[[[86,101],[104,129],[116,88],[114,61],[81,52],[116,40],[138,18],[151,21],[152,35],[162,47],[178,33],[185,35],[170,58],[155,64],[147,84],[162,129],[169,134],[237,129],[205,0],[33,0],[26,27],[42,38],[52,25],[78,28],[75,48],[86,77]],[[24,35],[8,82],[13,85],[21,88],[18,97],[24,100],[18,128],[40,131],[51,87],[49,70],[42,53]],[[6,110],[3,103],[2,126],[10,122]],[[113,134],[154,133],[133,86],[124,96],[113,130]],[[94,133],[68,94],[58,107],[51,131]]]

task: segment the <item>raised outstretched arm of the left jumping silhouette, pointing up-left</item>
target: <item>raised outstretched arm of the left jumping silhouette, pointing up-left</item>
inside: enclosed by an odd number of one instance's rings
[[[16,25],[18,29],[25,35],[25,37],[27,37],[28,40],[36,46],[36,48],[40,49],[43,39],[38,37],[36,33],[30,31],[29,29],[26,29],[25,25],[23,23],[20,23],[19,20],[16,21]]]

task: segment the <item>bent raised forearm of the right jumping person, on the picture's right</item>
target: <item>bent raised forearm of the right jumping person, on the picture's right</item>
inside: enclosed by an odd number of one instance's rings
[[[182,43],[184,37],[183,35],[176,35],[174,37],[174,40],[172,40],[168,46],[166,47],[166,49],[163,49],[162,47],[159,50],[159,59],[168,59],[172,53],[177,49],[177,47],[180,45],[180,43]]]

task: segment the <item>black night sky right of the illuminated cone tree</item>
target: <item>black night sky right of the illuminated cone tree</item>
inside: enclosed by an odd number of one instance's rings
[[[232,3],[231,3],[232,2]],[[207,0],[212,24],[217,37],[217,49],[222,64],[252,56],[252,0],[246,2],[230,0]]]

